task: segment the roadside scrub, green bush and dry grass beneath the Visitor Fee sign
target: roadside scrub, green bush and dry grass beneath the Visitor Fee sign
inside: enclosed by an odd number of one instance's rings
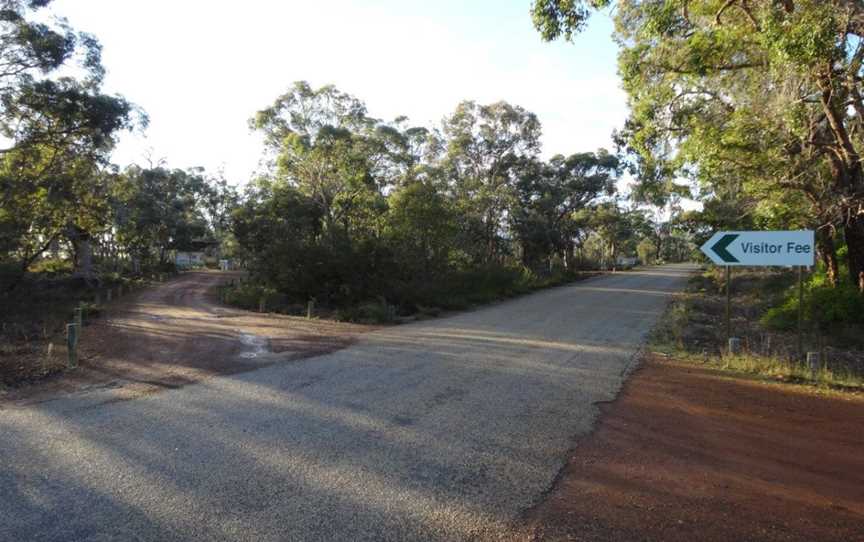
[[[782,382],[864,391],[864,319],[860,299],[824,285],[824,270],[807,278],[802,348],[818,356],[807,365],[798,352],[797,274],[738,269],[732,274],[732,335],[740,354],[726,348],[725,281],[717,270],[694,277],[652,336],[651,347],[677,360]],[[843,295],[845,294],[845,295]]]

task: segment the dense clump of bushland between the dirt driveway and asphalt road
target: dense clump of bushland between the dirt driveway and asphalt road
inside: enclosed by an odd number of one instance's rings
[[[640,239],[673,237],[619,204],[615,156],[542,160],[540,122],[505,102],[463,102],[438,127],[412,127],[299,82],[252,126],[271,167],[232,216],[254,284],[227,298],[244,306],[259,295],[272,308],[315,299],[343,315],[461,308],[572,280],[635,256]],[[656,247],[642,244],[652,260]]]

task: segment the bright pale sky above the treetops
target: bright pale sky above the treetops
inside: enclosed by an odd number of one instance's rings
[[[105,91],[150,118],[114,162],[254,175],[248,120],[294,81],[334,84],[369,114],[431,126],[462,100],[536,113],[544,156],[612,149],[627,114],[607,15],[575,43],[544,43],[530,0],[56,0],[103,45]]]

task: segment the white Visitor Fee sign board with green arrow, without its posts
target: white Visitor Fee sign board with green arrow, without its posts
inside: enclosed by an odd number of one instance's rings
[[[813,265],[815,236],[802,231],[721,231],[701,248],[717,265]]]

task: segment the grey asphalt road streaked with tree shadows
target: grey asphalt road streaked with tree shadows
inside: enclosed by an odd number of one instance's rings
[[[506,538],[691,270],[598,277],[134,400],[0,410],[0,540]]]

